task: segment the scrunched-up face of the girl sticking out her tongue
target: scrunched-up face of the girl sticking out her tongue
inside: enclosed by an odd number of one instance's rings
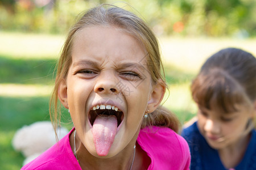
[[[121,29],[94,26],[76,35],[72,63],[58,95],[70,110],[82,144],[94,156],[98,156],[93,134],[96,117],[100,114],[117,117],[117,125],[108,118],[105,122],[100,119],[99,123],[105,130],[111,129],[110,133],[116,130],[108,155],[101,155],[110,158],[131,141],[135,142],[144,112],[154,111],[160,103],[162,97],[154,97],[155,87],[151,85],[143,46]],[[113,130],[113,126],[118,127]],[[100,131],[96,138],[104,138],[101,133],[105,132],[101,130],[96,130]],[[107,136],[111,138],[109,132]]]

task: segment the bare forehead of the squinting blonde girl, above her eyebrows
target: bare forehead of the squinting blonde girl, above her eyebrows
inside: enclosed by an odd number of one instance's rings
[[[86,27],[77,32],[73,41],[72,60],[85,57],[97,61],[129,59],[137,63],[147,61],[146,50],[133,36],[112,26]]]

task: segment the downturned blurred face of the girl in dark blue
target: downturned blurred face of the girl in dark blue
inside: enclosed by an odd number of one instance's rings
[[[248,109],[245,105],[237,105],[236,108],[237,112],[225,114],[217,109],[199,107],[197,125],[212,148],[218,150],[236,145],[244,138],[247,123],[253,117],[253,109]]]

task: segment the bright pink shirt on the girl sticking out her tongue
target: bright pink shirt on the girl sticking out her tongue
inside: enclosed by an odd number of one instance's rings
[[[73,130],[22,169],[81,169],[69,144],[69,135]],[[171,129],[156,126],[142,129],[137,142],[151,159],[148,170],[189,169],[191,158],[188,144]]]

